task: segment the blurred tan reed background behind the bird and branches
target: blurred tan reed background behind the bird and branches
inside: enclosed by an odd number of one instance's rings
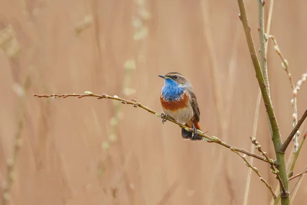
[[[246,4],[258,48],[257,4]],[[2,183],[18,130],[22,139],[9,204],[243,204],[248,168],[230,150],[185,141],[171,122],[162,125],[155,115],[112,100],[32,96],[92,91],[136,98],[162,112],[164,82],[157,75],[178,71],[193,84],[203,130],[250,150],[258,88],[237,1],[0,0],[0,5]],[[306,69],[306,6],[302,0],[275,1],[273,10],[271,34],[295,83]],[[292,130],[292,91],[280,64],[270,42],[272,100],[285,139]],[[26,94],[18,97],[25,81]],[[299,116],[306,87],[298,93]],[[257,139],[275,158],[262,103]],[[295,173],[305,167],[306,154],[304,146]],[[258,160],[254,165],[275,190],[270,168]],[[307,203],[306,185],[303,181],[294,204]],[[252,173],[248,204],[270,201]]]

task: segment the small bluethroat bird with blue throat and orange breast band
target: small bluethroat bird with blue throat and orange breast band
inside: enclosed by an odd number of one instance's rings
[[[172,117],[186,127],[192,128],[189,132],[182,128],[181,136],[185,139],[201,140],[197,135],[200,130],[200,109],[190,81],[181,73],[170,72],[159,75],[164,78],[160,101],[165,114],[162,114],[162,122],[165,115]]]

